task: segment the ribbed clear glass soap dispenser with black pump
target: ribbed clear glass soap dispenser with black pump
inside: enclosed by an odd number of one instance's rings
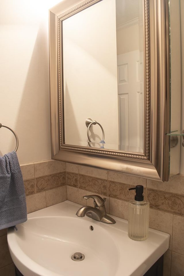
[[[135,200],[129,202],[128,236],[135,241],[144,241],[148,236],[149,202],[144,201],[142,185],[136,185]]]

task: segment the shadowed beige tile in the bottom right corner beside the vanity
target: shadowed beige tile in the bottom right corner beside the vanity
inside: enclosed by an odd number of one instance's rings
[[[184,256],[172,252],[171,258],[171,276],[183,276],[184,275]]]

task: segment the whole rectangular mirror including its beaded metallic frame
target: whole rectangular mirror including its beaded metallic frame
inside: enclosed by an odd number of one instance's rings
[[[167,181],[168,1],[64,0],[49,20],[52,158]]]

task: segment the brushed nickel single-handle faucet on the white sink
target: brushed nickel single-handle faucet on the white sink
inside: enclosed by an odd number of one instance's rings
[[[94,207],[83,206],[76,212],[77,216],[83,217],[88,216],[89,218],[95,219],[95,221],[101,221],[104,223],[114,224],[116,221],[106,214],[105,201],[106,198],[101,198],[97,195],[83,196],[84,199],[93,198]]]

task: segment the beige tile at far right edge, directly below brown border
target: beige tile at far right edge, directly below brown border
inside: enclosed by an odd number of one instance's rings
[[[173,248],[175,253],[184,255],[184,217],[174,215]]]

